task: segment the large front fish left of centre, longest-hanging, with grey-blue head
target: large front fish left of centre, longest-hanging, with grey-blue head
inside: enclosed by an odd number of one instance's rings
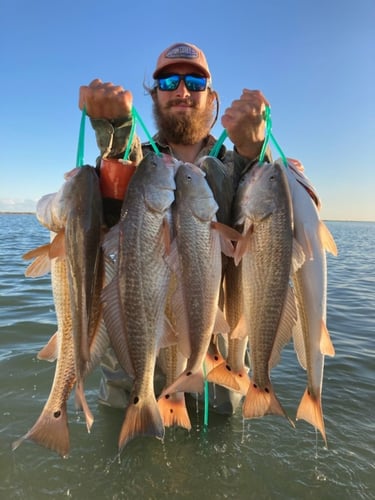
[[[106,251],[118,248],[117,276],[102,294],[105,320],[120,364],[134,376],[120,451],[136,436],[164,436],[153,377],[170,278],[165,256],[171,239],[175,167],[154,153],[141,161],[129,183],[118,227],[104,245]]]

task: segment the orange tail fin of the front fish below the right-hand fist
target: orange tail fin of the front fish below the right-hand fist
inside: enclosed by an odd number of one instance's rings
[[[250,380],[249,389],[242,407],[242,415],[244,418],[281,415],[290,422],[292,427],[295,427],[293,421],[288,417],[280,401],[277,399],[271,382],[267,384],[267,387],[261,388]]]

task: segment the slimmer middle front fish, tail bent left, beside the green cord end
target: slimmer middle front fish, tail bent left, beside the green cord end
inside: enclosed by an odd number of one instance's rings
[[[176,173],[174,227],[186,308],[183,329],[190,355],[186,369],[163,390],[161,398],[174,392],[203,391],[203,362],[215,325],[221,284],[220,234],[213,228],[217,209],[202,170],[190,163],[181,165]]]

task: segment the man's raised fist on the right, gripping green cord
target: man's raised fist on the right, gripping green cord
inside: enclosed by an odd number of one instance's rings
[[[253,159],[260,154],[265,134],[263,113],[267,105],[260,90],[244,89],[241,97],[225,110],[221,123],[241,156]]]

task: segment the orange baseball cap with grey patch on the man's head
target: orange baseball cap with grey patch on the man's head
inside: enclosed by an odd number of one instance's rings
[[[157,78],[162,71],[178,63],[189,63],[201,71],[204,76],[211,79],[211,73],[204,53],[196,45],[185,42],[175,43],[160,54],[156,63],[156,69],[152,75],[153,78]]]

